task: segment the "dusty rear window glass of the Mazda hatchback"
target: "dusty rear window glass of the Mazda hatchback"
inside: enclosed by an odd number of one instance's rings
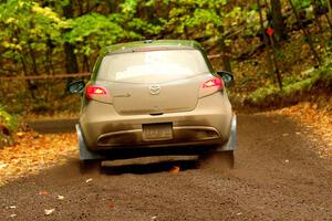
[[[127,83],[159,83],[209,73],[198,50],[139,51],[106,55],[97,78]]]

